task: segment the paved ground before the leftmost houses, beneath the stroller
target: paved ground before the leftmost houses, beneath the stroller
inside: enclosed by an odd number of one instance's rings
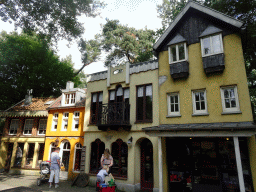
[[[96,192],[95,187],[71,186],[71,181],[60,181],[59,188],[49,189],[48,182],[37,186],[38,176],[0,174],[0,191],[3,192]]]

